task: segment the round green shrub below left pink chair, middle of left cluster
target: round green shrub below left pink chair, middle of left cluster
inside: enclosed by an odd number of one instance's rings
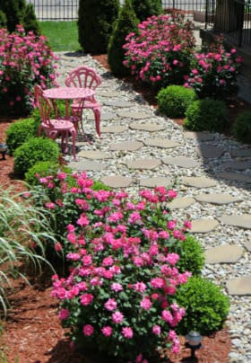
[[[13,156],[14,173],[23,176],[39,161],[55,163],[59,156],[59,147],[50,138],[31,137],[14,151]]]

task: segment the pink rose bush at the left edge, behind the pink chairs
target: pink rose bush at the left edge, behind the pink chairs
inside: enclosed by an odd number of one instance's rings
[[[56,56],[44,36],[0,29],[0,111],[23,116],[33,108],[33,86],[43,88],[55,83]]]

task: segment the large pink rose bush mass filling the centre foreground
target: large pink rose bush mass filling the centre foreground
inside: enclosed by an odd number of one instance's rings
[[[191,273],[177,269],[190,223],[170,215],[176,191],[158,187],[130,198],[95,190],[85,173],[40,182],[39,203],[53,202],[48,211],[62,222],[57,233],[69,274],[53,277],[52,296],[74,346],[138,361],[162,348],[178,351],[175,329],[185,310],[176,291]]]

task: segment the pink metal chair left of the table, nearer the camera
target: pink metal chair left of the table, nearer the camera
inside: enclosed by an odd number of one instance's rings
[[[74,128],[73,122],[64,119],[51,119],[51,111],[53,109],[51,102],[44,95],[42,88],[39,84],[34,86],[35,102],[39,108],[39,113],[41,117],[41,123],[39,125],[39,137],[41,136],[42,130],[45,131],[47,137],[56,139],[58,134],[61,134],[61,149],[62,152],[67,152],[68,150],[68,137],[69,133],[73,138],[73,154],[74,160],[76,157],[75,145],[76,145],[76,130]],[[65,142],[65,147],[64,147]]]

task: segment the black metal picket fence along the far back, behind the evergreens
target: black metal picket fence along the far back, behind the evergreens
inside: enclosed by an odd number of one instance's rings
[[[33,4],[39,21],[75,21],[78,19],[79,0],[26,0]],[[120,0],[120,4],[124,4]],[[178,9],[193,13],[205,11],[206,0],[162,0],[163,9]]]

